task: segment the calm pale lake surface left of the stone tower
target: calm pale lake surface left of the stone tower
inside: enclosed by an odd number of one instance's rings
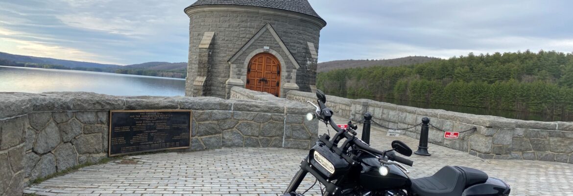
[[[121,96],[184,96],[185,79],[0,66],[0,92],[85,91]]]

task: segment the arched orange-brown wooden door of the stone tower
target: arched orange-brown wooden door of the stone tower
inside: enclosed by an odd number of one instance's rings
[[[246,88],[279,96],[281,65],[277,57],[259,53],[249,61]]]

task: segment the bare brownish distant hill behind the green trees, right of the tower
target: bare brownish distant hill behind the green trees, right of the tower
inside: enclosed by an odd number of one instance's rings
[[[317,72],[328,72],[334,69],[346,68],[367,68],[369,66],[400,66],[400,65],[413,65],[428,61],[440,60],[441,58],[435,57],[402,57],[387,60],[339,60],[321,62],[317,66]]]

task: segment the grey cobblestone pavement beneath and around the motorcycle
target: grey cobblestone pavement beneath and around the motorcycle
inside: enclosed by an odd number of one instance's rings
[[[341,124],[344,120],[337,119]],[[320,133],[327,132],[324,124]],[[362,127],[359,127],[362,130]],[[332,128],[331,128],[332,132]],[[418,140],[388,137],[372,128],[378,149],[399,139],[417,150]],[[573,195],[573,164],[532,160],[489,160],[429,144],[431,156],[412,155],[410,177],[434,174],[446,165],[468,166],[503,179],[511,195]],[[308,151],[283,148],[223,148],[198,152],[134,155],[26,187],[36,195],[276,195],[282,193]],[[299,191],[314,182],[308,175]],[[318,184],[306,195],[320,195]]]

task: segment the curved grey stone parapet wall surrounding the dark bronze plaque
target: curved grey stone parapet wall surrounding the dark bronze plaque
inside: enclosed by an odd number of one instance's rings
[[[183,151],[308,149],[318,129],[304,122],[312,108],[286,99],[0,93],[0,195],[22,195],[34,179],[107,157],[112,109],[191,109],[191,148]]]

